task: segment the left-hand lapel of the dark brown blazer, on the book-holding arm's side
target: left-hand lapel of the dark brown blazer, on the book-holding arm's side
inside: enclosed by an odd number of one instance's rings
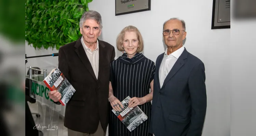
[[[82,45],[82,43],[81,43],[81,37],[80,37],[79,40],[76,42],[75,47],[76,47],[75,51],[76,51],[78,57],[80,58],[80,60],[81,60],[82,63],[84,64],[84,66],[87,68],[87,70],[91,73],[91,75],[93,76],[93,78],[94,78],[95,80],[97,80],[97,79],[96,79],[96,76],[95,76],[95,74],[94,74],[92,65],[91,65],[91,63],[90,63],[90,61],[89,61],[89,59],[88,59],[88,57],[87,57],[87,55],[86,55],[86,53],[85,53],[85,50],[84,50],[84,48],[83,48],[83,45]]]

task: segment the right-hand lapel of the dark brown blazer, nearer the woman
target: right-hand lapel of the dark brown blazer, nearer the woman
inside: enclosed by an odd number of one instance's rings
[[[102,71],[104,69],[104,60],[106,57],[106,52],[104,51],[105,45],[101,40],[98,40],[99,42],[99,73],[98,73],[98,80],[100,80],[100,77],[102,75]],[[109,64],[110,65],[110,64]]]

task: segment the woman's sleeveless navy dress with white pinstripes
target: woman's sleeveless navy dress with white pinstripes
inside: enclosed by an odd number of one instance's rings
[[[154,62],[142,53],[136,53],[133,58],[127,57],[124,53],[110,64],[110,81],[114,96],[123,101],[127,96],[140,98],[148,95],[154,73]],[[151,102],[138,106],[148,116],[148,119],[132,132],[111,112],[110,106],[109,136],[152,136],[148,133]]]

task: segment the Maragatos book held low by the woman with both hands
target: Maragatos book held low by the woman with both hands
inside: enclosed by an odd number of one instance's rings
[[[142,124],[144,121],[148,119],[146,114],[138,107],[129,108],[129,100],[131,98],[128,96],[126,97],[121,103],[123,104],[123,109],[121,112],[114,111],[112,109],[112,112],[118,117],[121,122],[126,126],[126,128],[132,132],[134,129],[136,129],[140,124]]]

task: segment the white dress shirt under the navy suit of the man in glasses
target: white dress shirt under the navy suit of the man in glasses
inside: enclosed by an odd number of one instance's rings
[[[167,76],[167,74],[171,71],[172,67],[178,60],[181,53],[184,51],[184,46],[179,48],[178,50],[174,51],[173,53],[167,55],[167,49],[165,50],[163,60],[161,62],[160,68],[159,68],[159,81],[160,81],[160,87],[162,88],[164,80]]]

